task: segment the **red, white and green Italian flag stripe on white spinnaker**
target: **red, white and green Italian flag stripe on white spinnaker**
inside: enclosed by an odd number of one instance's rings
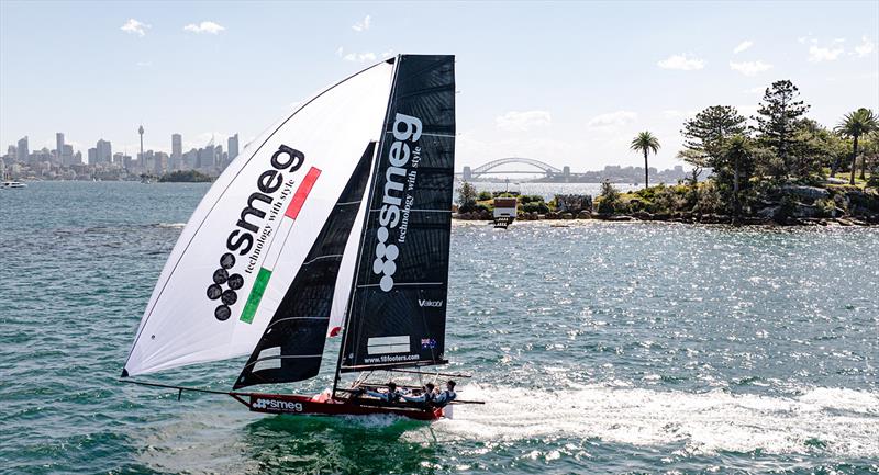
[[[263,294],[266,293],[268,280],[271,278],[271,272],[275,270],[275,264],[281,255],[281,249],[276,249],[275,242],[278,242],[279,247],[283,246],[283,242],[287,240],[287,236],[293,228],[293,222],[296,220],[297,216],[299,216],[299,212],[302,210],[302,205],[305,204],[305,199],[309,196],[309,193],[311,193],[311,189],[314,188],[314,182],[318,181],[318,177],[320,177],[320,174],[321,170],[311,167],[308,173],[305,173],[305,177],[302,179],[302,182],[299,183],[299,188],[297,188],[296,193],[293,193],[293,197],[290,200],[290,204],[287,206],[287,211],[283,213],[285,217],[281,219],[281,223],[278,226],[278,233],[276,233],[271,238],[271,246],[269,246],[266,251],[266,259],[263,262],[263,267],[256,274],[254,287],[251,291],[251,295],[247,296],[247,303],[244,305],[244,310],[241,313],[241,321],[244,321],[245,324],[252,324],[254,321],[256,310],[259,308],[259,302],[263,299]]]

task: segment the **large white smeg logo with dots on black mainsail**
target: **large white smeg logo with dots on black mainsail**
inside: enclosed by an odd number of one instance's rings
[[[410,144],[415,145],[421,138],[421,131],[420,118],[400,113],[394,116],[394,142],[388,151],[390,166],[385,171],[385,195],[381,200],[382,205],[378,216],[380,227],[376,230],[376,238],[378,238],[376,260],[372,261],[372,272],[376,275],[381,275],[379,287],[385,292],[390,292],[393,289],[393,273],[397,272],[394,260],[400,255],[397,244],[388,242],[390,230],[400,225],[401,214],[405,215],[404,222],[408,222],[409,207],[412,205],[412,199],[408,196],[404,210],[400,210],[403,204],[403,188],[410,173],[409,169],[404,167],[409,163],[410,155],[413,155],[413,152],[415,157],[421,155],[421,147],[414,147],[414,150],[410,147]],[[394,181],[394,177],[400,177],[400,181]],[[401,235],[404,236],[402,233]],[[403,240],[398,236],[398,242]]]

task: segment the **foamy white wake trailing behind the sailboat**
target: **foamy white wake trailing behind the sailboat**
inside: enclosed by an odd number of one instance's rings
[[[632,445],[683,444],[688,453],[719,451],[879,455],[879,393],[811,388],[799,396],[660,392],[601,385],[558,392],[468,386],[445,436],[521,440],[596,438]]]

